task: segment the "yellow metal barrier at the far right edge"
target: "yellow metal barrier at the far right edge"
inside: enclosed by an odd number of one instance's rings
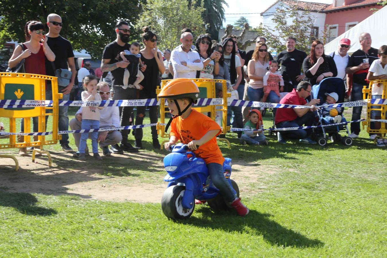
[[[384,138],[387,139],[386,133],[386,123],[380,123],[380,129],[371,128],[371,111],[380,111],[381,116],[377,119],[387,119],[386,118],[386,111],[387,111],[387,105],[378,105],[378,104],[371,104],[371,98],[372,98],[372,88],[373,87],[381,87],[383,89],[382,91],[382,99],[387,98],[387,80],[374,80],[370,82],[370,87],[367,89],[366,86],[363,87],[363,99],[367,99],[367,117],[366,121],[363,121],[363,128],[367,127],[367,133],[372,134],[380,134],[381,137],[376,137],[374,140],[374,143],[376,144],[377,138]],[[375,122],[374,122],[375,123]]]

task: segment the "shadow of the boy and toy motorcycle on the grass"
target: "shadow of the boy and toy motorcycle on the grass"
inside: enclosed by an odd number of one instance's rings
[[[224,231],[236,231],[256,236],[262,236],[273,246],[279,247],[323,247],[324,243],[319,239],[310,239],[299,232],[295,232],[276,221],[270,219],[270,214],[264,214],[255,210],[250,210],[246,217],[236,217],[236,214],[224,212],[214,213],[209,207],[200,207],[196,212],[202,214],[202,218],[190,217],[187,220],[179,221],[181,224],[190,224],[197,227],[221,229]]]

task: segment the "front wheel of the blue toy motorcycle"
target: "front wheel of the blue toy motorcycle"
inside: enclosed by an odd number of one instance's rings
[[[192,199],[192,208],[185,209],[182,206],[182,198],[185,192],[185,186],[173,185],[168,187],[161,198],[161,208],[169,219],[187,219],[195,209],[195,199]]]

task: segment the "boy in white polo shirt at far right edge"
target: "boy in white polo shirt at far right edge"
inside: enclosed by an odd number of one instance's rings
[[[367,80],[387,80],[387,45],[383,45],[378,50],[378,60],[375,60],[368,70]],[[386,84],[374,83],[372,85],[372,99],[381,99],[383,88],[384,92],[387,91]],[[371,108],[380,108],[380,106],[371,106]],[[377,110],[371,111],[371,119],[381,119],[381,112]],[[371,129],[380,129],[380,122],[371,122]],[[371,135],[371,139],[375,139],[380,134]],[[378,138],[376,145],[378,147],[385,147],[387,144],[387,139]]]

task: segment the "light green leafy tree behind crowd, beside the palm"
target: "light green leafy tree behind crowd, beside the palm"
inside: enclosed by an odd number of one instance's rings
[[[149,26],[158,36],[159,48],[173,49],[180,44],[183,28],[190,28],[195,35],[205,33],[204,8],[195,6],[195,0],[192,5],[188,0],[148,0],[137,27]]]

